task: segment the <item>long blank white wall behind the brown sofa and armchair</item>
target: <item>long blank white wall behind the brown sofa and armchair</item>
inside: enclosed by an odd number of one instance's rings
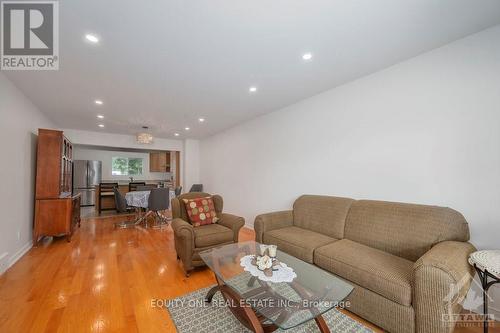
[[[500,26],[205,139],[200,165],[249,225],[304,193],[437,204],[498,248]]]

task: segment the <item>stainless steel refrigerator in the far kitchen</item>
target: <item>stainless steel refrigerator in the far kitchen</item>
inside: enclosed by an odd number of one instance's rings
[[[82,206],[95,206],[96,186],[101,182],[102,162],[75,160],[73,162],[73,193],[82,195]]]

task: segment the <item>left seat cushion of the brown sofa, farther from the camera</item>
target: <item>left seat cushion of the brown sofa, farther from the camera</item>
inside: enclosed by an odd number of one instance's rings
[[[311,264],[316,248],[336,240],[299,227],[275,229],[265,232],[263,236],[264,243],[277,245],[279,250]]]

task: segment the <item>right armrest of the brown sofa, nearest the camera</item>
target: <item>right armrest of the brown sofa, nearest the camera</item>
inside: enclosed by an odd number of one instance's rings
[[[473,278],[467,242],[445,241],[425,253],[413,266],[416,332],[452,332],[453,314],[462,310]]]

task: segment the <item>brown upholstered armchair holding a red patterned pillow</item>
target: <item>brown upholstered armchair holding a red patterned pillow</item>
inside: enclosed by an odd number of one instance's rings
[[[193,227],[183,199],[212,196],[219,221],[214,224]],[[174,230],[175,252],[182,261],[186,276],[198,266],[203,266],[199,253],[210,248],[238,242],[238,234],[245,224],[242,217],[222,213],[223,201],[220,195],[204,192],[185,193],[172,199],[172,229]]]

